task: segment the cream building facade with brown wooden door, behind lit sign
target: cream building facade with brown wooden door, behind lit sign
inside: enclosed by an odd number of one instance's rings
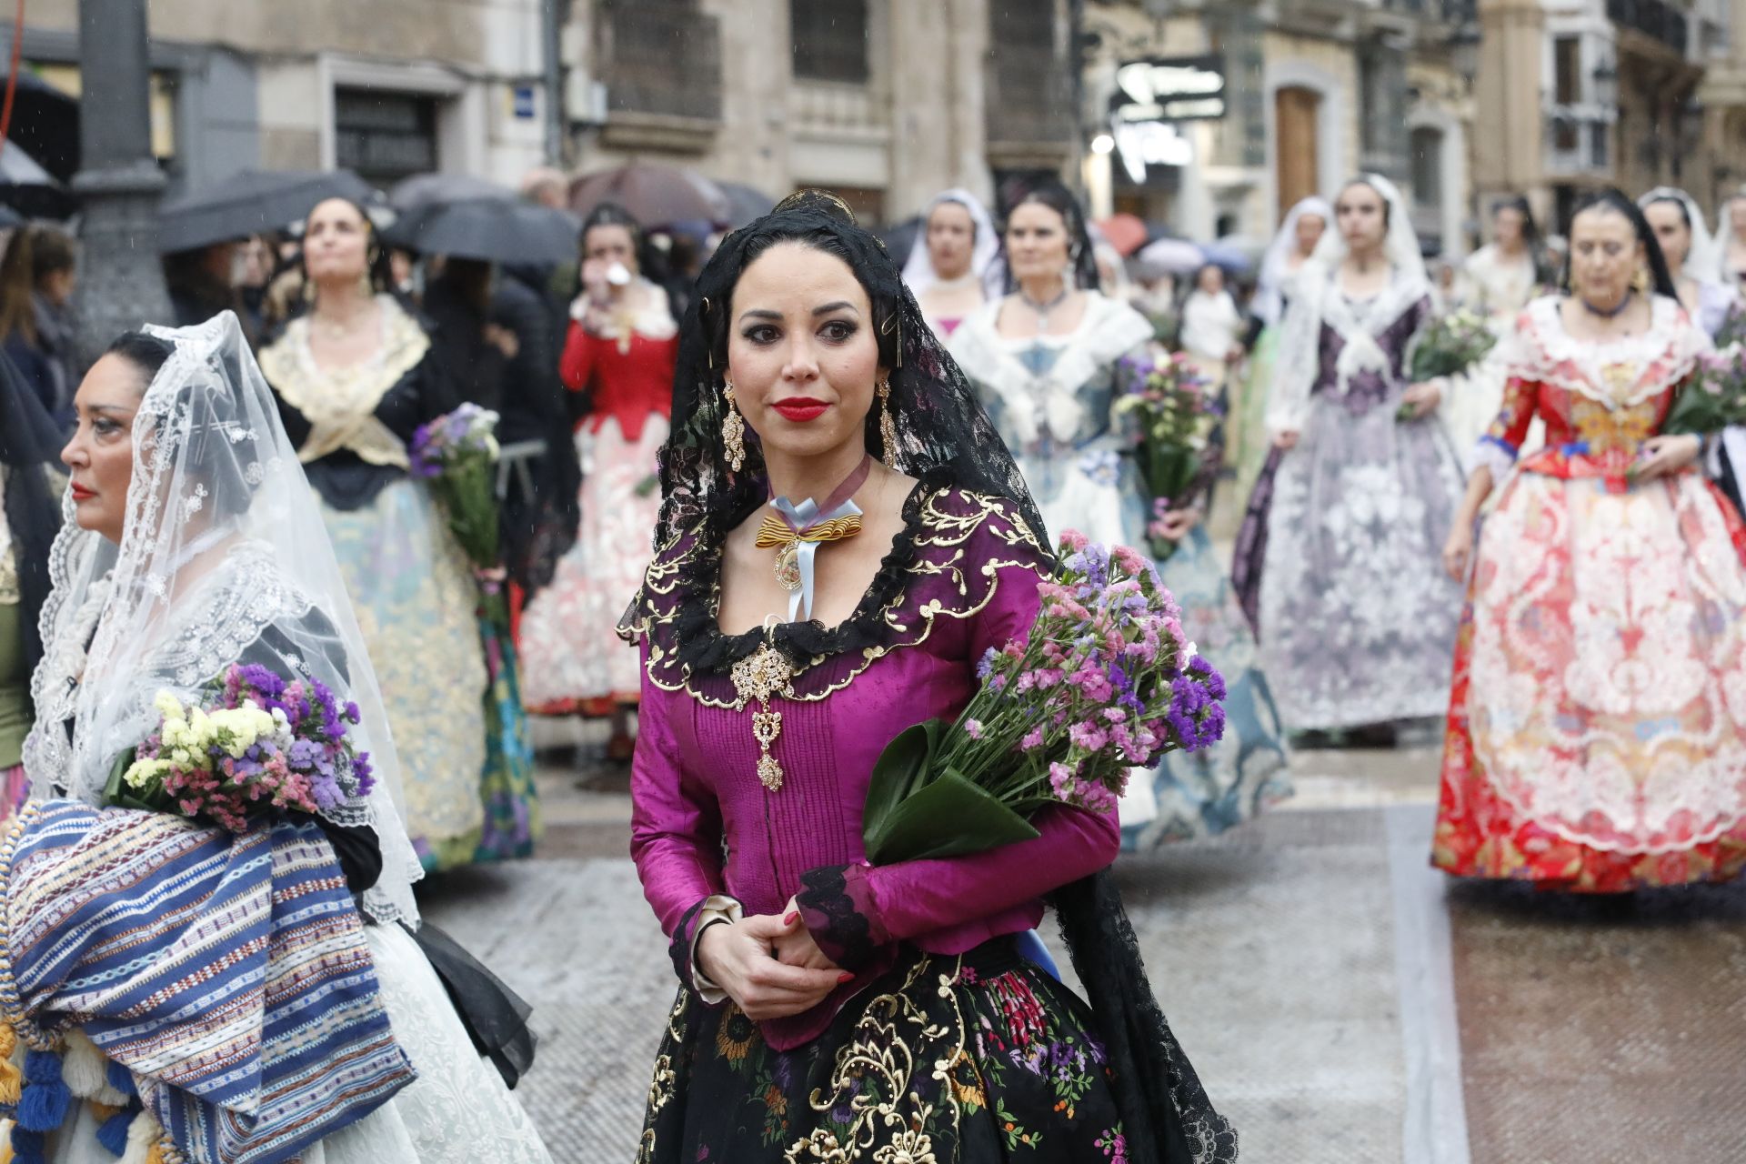
[[[1440,0],[1213,0],[1090,3],[1093,117],[1116,68],[1138,58],[1215,58],[1224,115],[1182,122],[1177,166],[1135,181],[1117,155],[1093,157],[1107,204],[1189,237],[1264,237],[1311,194],[1360,171],[1395,180],[1426,248],[1461,255],[1470,218],[1474,91],[1467,10]]]

